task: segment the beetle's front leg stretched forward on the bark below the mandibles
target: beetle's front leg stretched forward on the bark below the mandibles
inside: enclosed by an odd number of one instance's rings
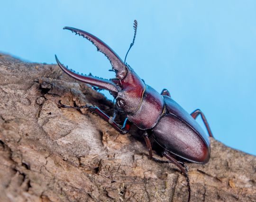
[[[112,117],[108,116],[105,114],[101,109],[97,106],[93,105],[83,105],[83,106],[68,106],[68,105],[63,105],[61,101],[59,101],[59,107],[63,108],[70,108],[70,109],[82,109],[82,108],[88,108],[91,113],[97,114],[100,116],[103,120],[108,122],[114,129],[116,129],[118,132],[120,132],[122,135],[126,134],[129,132],[130,127],[131,127],[131,122],[128,121],[128,118],[125,119],[123,126],[120,126],[118,123],[116,123]]]

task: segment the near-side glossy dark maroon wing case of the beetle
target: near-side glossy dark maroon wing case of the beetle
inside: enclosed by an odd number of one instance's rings
[[[171,153],[195,163],[207,163],[210,148],[201,136],[174,114],[165,114],[152,130],[155,141]]]

